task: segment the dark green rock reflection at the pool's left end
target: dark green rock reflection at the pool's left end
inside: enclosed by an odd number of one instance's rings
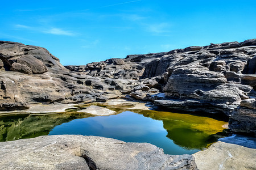
[[[89,117],[89,114],[59,113],[38,116],[28,114],[2,116],[0,119],[0,141],[48,135],[49,131],[57,125],[85,117]]]

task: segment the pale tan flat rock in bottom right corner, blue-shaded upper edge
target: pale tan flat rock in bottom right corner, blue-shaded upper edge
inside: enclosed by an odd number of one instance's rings
[[[193,154],[200,170],[218,169],[255,169],[256,146],[255,138],[246,139],[232,137],[213,143],[207,150]],[[232,144],[234,142],[236,144]]]

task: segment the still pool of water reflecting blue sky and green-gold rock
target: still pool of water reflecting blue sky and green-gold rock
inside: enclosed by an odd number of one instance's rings
[[[138,110],[102,117],[77,112],[19,114],[0,117],[0,141],[55,134],[96,135],[152,143],[166,154],[193,154],[222,137],[224,124],[191,114]]]

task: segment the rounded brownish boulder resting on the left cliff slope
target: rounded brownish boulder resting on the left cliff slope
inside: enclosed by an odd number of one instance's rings
[[[42,74],[48,71],[46,65],[44,65],[42,61],[31,55],[21,56],[17,59],[17,62],[21,65],[30,67],[34,74]]]

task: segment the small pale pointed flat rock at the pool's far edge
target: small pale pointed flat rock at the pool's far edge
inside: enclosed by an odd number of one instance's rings
[[[109,116],[109,115],[117,113],[110,109],[98,107],[96,105],[91,105],[91,106],[87,107],[86,109],[82,109],[81,111],[78,111],[78,112],[90,113],[90,114],[94,114],[97,116]]]

